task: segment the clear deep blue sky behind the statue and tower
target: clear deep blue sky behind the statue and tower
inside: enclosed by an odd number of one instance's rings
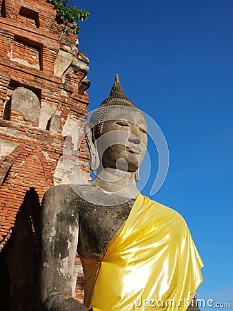
[[[72,4],[91,14],[79,23],[79,50],[90,59],[90,110],[119,73],[125,95],[159,124],[170,167],[152,199],[190,227],[205,264],[199,299],[233,308],[233,1]],[[152,176],[142,193],[149,196],[158,156],[152,144],[148,150]]]

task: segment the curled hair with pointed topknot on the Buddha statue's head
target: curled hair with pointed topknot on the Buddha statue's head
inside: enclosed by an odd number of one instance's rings
[[[114,84],[112,85],[110,96],[103,100],[99,108],[97,108],[92,114],[92,117],[90,117],[90,122],[94,125],[92,131],[95,139],[99,138],[101,135],[103,122],[114,106],[128,106],[137,109],[132,100],[125,97],[118,73],[116,74]]]

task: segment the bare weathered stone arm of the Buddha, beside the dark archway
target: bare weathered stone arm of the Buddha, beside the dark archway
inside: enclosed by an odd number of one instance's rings
[[[78,241],[76,194],[68,185],[49,189],[42,202],[40,288],[42,310],[88,310],[72,296]]]

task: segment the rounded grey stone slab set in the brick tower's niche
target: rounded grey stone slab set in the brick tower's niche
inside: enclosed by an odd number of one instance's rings
[[[26,121],[39,122],[39,98],[28,88],[20,87],[12,92],[11,109],[21,112]]]

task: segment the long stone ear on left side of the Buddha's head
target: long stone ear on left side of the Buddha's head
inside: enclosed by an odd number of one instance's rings
[[[92,169],[92,171],[96,171],[99,167],[99,154],[97,150],[97,144],[94,144],[95,140],[93,128],[94,125],[92,123],[85,124],[84,133],[90,151],[90,168]]]

